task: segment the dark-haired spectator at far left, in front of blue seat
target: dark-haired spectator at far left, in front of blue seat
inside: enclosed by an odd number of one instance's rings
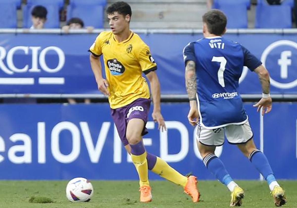
[[[46,15],[48,11],[45,7],[38,5],[35,6],[31,12],[32,26],[30,29],[42,29],[46,22]]]

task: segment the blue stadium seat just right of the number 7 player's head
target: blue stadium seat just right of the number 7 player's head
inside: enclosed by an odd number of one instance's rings
[[[247,7],[244,4],[221,5],[219,7],[227,16],[227,28],[247,28]]]

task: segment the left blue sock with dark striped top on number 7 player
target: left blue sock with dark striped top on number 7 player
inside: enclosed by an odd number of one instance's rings
[[[233,181],[223,162],[216,155],[207,155],[203,158],[203,163],[221,183],[228,185],[231,181]]]

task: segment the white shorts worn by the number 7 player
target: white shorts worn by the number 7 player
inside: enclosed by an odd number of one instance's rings
[[[224,144],[225,135],[230,144],[241,144],[253,137],[249,121],[242,125],[228,125],[217,129],[206,129],[199,125],[196,139],[207,146],[221,146]]]

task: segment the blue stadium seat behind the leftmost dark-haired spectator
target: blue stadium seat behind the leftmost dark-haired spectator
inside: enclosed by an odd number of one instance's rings
[[[37,5],[42,5],[48,10],[47,21],[45,28],[60,28],[59,11],[64,6],[64,0],[51,0],[50,2],[44,0],[27,0],[28,4],[23,7],[23,27],[30,28],[31,11]]]

